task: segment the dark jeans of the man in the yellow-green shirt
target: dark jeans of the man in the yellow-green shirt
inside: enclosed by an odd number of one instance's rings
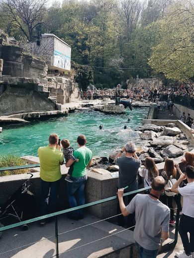
[[[46,182],[41,179],[41,215],[57,211],[60,180]]]

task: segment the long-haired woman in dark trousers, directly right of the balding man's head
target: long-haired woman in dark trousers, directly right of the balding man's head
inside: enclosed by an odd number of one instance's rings
[[[172,159],[165,159],[165,165],[164,165],[164,170],[161,173],[161,176],[165,179],[166,184],[168,181],[172,179],[178,179],[180,175],[182,174],[179,165],[175,165],[174,161]],[[179,195],[174,195],[174,196],[168,196],[166,194],[162,195],[161,201],[168,205],[170,208],[170,225],[175,225],[176,221],[174,220],[174,208],[173,208],[173,199],[177,203],[177,208],[180,210],[182,209],[181,207],[181,199]]]

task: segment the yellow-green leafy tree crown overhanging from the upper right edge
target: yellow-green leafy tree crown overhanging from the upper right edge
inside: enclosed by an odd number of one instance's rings
[[[161,42],[149,64],[168,79],[188,81],[194,75],[193,6],[177,4],[160,21]]]

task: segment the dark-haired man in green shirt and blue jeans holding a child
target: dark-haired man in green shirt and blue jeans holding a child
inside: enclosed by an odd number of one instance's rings
[[[73,183],[67,183],[68,200],[71,207],[85,204],[84,188],[87,181],[86,169],[92,164],[92,151],[86,147],[86,136],[81,134],[77,138],[79,148],[74,151],[75,158],[79,159],[79,162],[75,162],[73,159],[69,159],[66,163],[66,167],[70,167],[74,163],[71,180]],[[75,198],[75,194],[78,196],[78,203]],[[70,218],[78,220],[83,219],[83,210],[76,210],[69,215]]]

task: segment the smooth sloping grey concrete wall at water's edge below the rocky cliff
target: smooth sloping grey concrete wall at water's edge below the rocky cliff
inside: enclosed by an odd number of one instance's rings
[[[55,110],[55,104],[34,90],[9,86],[0,95],[0,115]]]

